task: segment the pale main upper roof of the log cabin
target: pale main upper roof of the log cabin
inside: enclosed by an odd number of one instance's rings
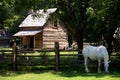
[[[29,14],[19,27],[42,27],[47,22],[51,13],[54,13],[57,8],[38,10],[36,13]]]

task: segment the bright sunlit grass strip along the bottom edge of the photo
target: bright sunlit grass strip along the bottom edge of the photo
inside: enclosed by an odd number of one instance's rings
[[[60,73],[59,73],[60,74]],[[59,74],[53,74],[51,72],[35,74],[35,73],[26,73],[21,75],[16,75],[13,73],[13,76],[0,77],[0,80],[118,80],[119,77],[116,75],[96,75],[96,74],[82,74],[72,77],[61,76]],[[74,74],[74,73],[72,73]]]

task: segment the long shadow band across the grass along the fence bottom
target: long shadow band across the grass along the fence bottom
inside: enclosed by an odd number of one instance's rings
[[[84,66],[83,65],[69,65],[69,66],[61,66],[60,71],[56,71],[55,67],[52,66],[36,66],[36,67],[22,67],[19,69],[17,72],[12,72],[9,70],[0,70],[0,76],[3,77],[9,77],[9,76],[19,76],[23,74],[28,74],[28,73],[33,73],[33,74],[44,74],[44,73],[50,73],[53,75],[61,76],[61,77],[77,77],[77,76],[82,76],[82,77],[96,77],[96,78],[101,78],[104,76],[110,76],[110,77],[117,77],[120,78],[120,70],[119,68],[110,68],[110,73],[105,73],[102,70],[102,73],[97,73],[97,68],[92,67],[90,73],[86,73],[84,71]]]

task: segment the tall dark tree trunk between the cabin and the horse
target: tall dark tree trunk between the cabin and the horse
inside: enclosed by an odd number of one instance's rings
[[[88,7],[88,1],[87,0],[78,0],[77,1],[77,6],[78,8],[78,12],[76,12],[77,16],[76,16],[76,22],[78,24],[76,24],[76,33],[77,33],[77,45],[78,45],[78,60],[80,60],[80,55],[82,53],[82,49],[83,49],[83,34],[84,31],[86,29],[86,25],[87,25],[87,18],[86,18],[86,8]],[[84,5],[84,6],[82,6]]]

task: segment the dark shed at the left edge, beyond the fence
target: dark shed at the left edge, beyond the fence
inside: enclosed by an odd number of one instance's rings
[[[0,47],[10,47],[12,35],[4,29],[0,29]]]

